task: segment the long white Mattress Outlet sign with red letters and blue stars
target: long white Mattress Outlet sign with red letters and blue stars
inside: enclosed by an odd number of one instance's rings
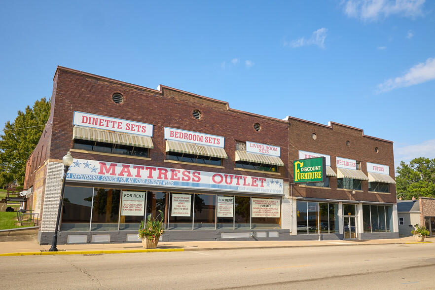
[[[84,159],[74,159],[67,173],[67,180],[284,194],[281,179]]]

